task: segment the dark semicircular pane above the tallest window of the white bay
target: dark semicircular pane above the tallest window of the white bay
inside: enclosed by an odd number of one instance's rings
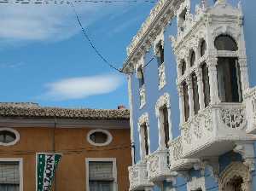
[[[228,35],[220,35],[215,39],[215,48],[218,50],[236,51],[238,49],[236,41]]]

